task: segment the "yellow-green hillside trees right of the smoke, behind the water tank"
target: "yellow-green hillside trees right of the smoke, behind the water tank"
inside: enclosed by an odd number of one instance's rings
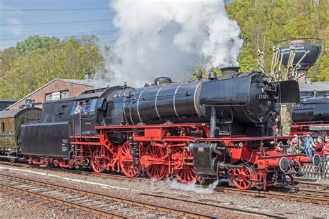
[[[235,0],[226,4],[226,10],[242,30],[244,46],[239,55],[242,71],[258,69],[255,61],[258,49],[265,52],[265,64],[269,65],[273,44],[280,40],[315,37],[329,43],[326,0]],[[325,53],[314,80],[329,80],[327,56]]]

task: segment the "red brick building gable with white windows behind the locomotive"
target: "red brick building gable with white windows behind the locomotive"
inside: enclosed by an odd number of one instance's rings
[[[35,107],[42,108],[42,103],[49,100],[58,100],[80,95],[83,91],[93,89],[94,83],[89,80],[74,80],[56,78],[46,85],[36,89],[7,109],[25,107],[26,100],[34,100]]]

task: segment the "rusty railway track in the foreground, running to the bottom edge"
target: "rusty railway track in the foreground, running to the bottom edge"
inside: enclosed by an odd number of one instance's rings
[[[129,200],[114,195],[105,195],[6,174],[0,174],[0,187],[33,195],[51,202],[65,204],[68,207],[74,207],[107,218],[146,218],[149,216],[214,218],[203,213]]]

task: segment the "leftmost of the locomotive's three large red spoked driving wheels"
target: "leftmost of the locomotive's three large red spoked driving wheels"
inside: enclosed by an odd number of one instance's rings
[[[126,177],[135,177],[138,171],[140,170],[140,165],[133,165],[133,155],[131,155],[131,148],[128,142],[125,142],[121,148],[121,154],[119,155],[119,164],[122,170],[122,173]]]

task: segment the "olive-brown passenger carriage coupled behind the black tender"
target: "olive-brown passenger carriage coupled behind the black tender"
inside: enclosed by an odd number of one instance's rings
[[[42,109],[28,107],[0,111],[0,157],[17,158],[21,148],[21,127],[26,123],[39,123]]]

